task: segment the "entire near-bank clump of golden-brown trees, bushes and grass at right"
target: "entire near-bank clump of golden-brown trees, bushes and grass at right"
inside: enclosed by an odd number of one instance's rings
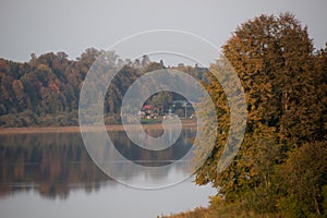
[[[196,182],[211,183],[218,194],[203,217],[326,217],[327,48],[314,49],[307,28],[284,13],[243,23],[222,52],[241,80],[247,124],[237,157],[217,173],[230,110],[223,89],[211,77],[207,89],[219,129]],[[218,60],[211,70],[222,66]]]

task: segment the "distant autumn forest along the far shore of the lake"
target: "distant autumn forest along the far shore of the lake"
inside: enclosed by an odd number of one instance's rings
[[[112,51],[86,49],[76,60],[64,52],[49,52],[25,63],[0,59],[0,125],[46,126],[77,125],[78,98],[83,81],[95,60],[106,56],[112,68],[121,69],[105,99],[105,122],[120,122],[120,106],[130,85],[146,72],[165,69],[164,62],[152,62],[147,56],[133,62],[122,60]],[[177,70],[203,77],[205,69],[179,64]],[[158,94],[160,107],[167,108],[174,94]],[[150,102],[150,100],[149,100]]]

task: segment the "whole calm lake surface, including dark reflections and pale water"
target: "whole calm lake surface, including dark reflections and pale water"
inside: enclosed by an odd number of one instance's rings
[[[110,133],[125,157],[148,166],[179,159],[192,146],[190,140],[194,135],[194,130],[183,130],[178,145],[158,158],[142,149],[126,149],[131,142],[123,132]],[[130,179],[143,177],[145,182],[159,183],[187,174],[187,170],[171,167],[166,173],[150,178],[134,172]],[[80,133],[0,135],[1,218],[147,218],[206,206],[215,191],[196,186],[192,180],[159,190],[133,189],[116,182],[96,167]]]

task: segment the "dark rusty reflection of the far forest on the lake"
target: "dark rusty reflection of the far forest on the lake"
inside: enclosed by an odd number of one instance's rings
[[[155,136],[160,131],[152,130],[149,134]],[[191,140],[195,134],[195,130],[183,130],[178,145],[168,148],[162,155],[138,149],[124,132],[110,132],[110,137],[120,153],[131,160],[141,165],[160,166],[183,156],[192,146]],[[110,149],[107,155],[110,157]],[[117,170],[129,171],[124,168]],[[137,177],[137,173],[134,172],[134,175]],[[168,172],[155,179],[160,180],[162,177],[168,177]],[[33,190],[45,197],[66,198],[73,189],[93,192],[116,184],[90,160],[80,133],[0,135],[1,197]]]

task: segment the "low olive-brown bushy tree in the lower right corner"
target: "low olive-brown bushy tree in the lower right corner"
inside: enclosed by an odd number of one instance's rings
[[[323,215],[323,187],[327,185],[326,172],[326,142],[307,143],[290,154],[278,172],[282,191],[279,205],[284,217]]]

